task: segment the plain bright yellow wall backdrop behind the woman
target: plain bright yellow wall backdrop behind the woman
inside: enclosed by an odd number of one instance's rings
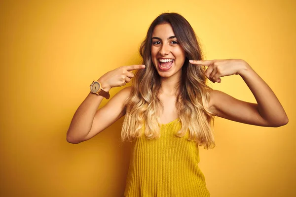
[[[140,63],[139,45],[166,11],[189,21],[206,59],[247,61],[290,120],[264,128],[216,118],[217,147],[200,148],[199,163],[211,196],[296,196],[295,9],[294,0],[1,1],[0,196],[122,196],[124,117],[80,144],[66,132],[93,80]],[[239,75],[211,86],[256,102]]]

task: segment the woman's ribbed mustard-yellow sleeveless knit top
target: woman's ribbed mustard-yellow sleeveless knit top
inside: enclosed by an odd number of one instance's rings
[[[125,197],[210,197],[198,145],[187,140],[188,131],[175,135],[181,126],[178,118],[161,125],[159,139],[143,134],[132,142]]]

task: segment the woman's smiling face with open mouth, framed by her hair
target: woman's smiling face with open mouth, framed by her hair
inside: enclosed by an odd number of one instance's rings
[[[179,44],[169,23],[155,26],[152,32],[151,58],[158,74],[162,77],[182,72],[185,50]]]

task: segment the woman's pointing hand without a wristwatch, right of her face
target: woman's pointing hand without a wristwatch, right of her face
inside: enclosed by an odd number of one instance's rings
[[[213,82],[221,83],[220,77],[241,74],[248,66],[247,62],[240,59],[228,60],[189,60],[193,65],[208,66],[205,75]]]

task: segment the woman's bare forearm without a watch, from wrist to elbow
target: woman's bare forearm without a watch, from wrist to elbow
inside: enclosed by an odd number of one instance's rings
[[[257,100],[261,117],[273,125],[287,124],[288,117],[280,101],[248,63],[245,64],[239,75]]]

